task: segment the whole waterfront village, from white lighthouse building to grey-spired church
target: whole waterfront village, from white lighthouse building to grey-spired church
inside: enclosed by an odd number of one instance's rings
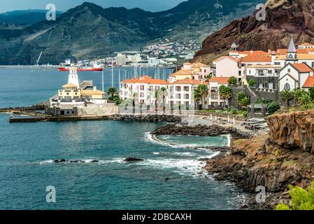
[[[296,47],[291,38],[287,49],[268,52],[239,51],[234,43],[229,55],[214,59],[211,66],[185,62],[167,79],[134,74],[131,79],[120,80],[114,99],[108,99],[104,90],[97,90],[92,81],[80,82],[77,68],[73,66],[69,69],[68,83],[45,103],[45,114],[54,117],[176,114],[177,110],[177,114],[221,111],[215,115],[221,117],[229,110],[233,114],[239,111],[248,118],[248,129],[256,126],[267,131],[264,118],[289,102],[295,103],[292,91],[304,90],[309,94],[314,87],[313,69],[314,45],[311,43]],[[283,92],[290,96],[285,99]],[[271,103],[275,111],[269,108]],[[234,118],[232,113],[227,123],[231,123],[231,117]],[[210,120],[217,121],[217,118],[210,114]]]

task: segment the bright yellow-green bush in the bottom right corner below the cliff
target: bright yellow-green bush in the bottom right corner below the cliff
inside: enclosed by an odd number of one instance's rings
[[[276,210],[314,210],[314,181],[307,189],[293,186],[289,188],[291,204],[278,204]]]

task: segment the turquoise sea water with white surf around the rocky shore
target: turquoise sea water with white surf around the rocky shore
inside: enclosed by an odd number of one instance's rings
[[[101,73],[80,76],[100,87]],[[0,79],[0,107],[27,106],[55,94],[67,74],[0,69]],[[149,133],[162,124],[10,124],[8,117],[0,114],[0,209],[236,209],[243,198],[231,184],[206,175],[199,161],[217,153],[197,146],[225,146],[228,137],[155,141]],[[123,162],[128,157],[144,161]],[[85,162],[52,162],[61,159]],[[46,202],[47,186],[55,186],[57,203]]]

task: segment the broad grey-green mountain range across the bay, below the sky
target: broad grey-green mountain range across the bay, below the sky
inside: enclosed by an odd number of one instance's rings
[[[102,8],[83,3],[56,21],[30,25],[0,22],[0,64],[59,64],[66,58],[106,57],[161,38],[185,41],[207,36],[234,18],[249,15],[262,0],[190,0],[152,13],[140,8]]]

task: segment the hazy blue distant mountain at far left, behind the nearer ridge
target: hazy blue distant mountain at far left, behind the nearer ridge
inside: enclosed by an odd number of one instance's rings
[[[33,24],[45,20],[48,10],[15,10],[0,14],[0,22],[8,22],[15,24]],[[57,17],[62,12],[56,12]]]

